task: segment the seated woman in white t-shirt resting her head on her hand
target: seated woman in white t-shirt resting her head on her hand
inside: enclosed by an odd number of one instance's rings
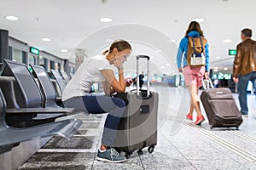
[[[129,42],[113,42],[103,54],[92,56],[79,66],[62,94],[65,107],[74,107],[76,111],[92,114],[108,113],[102,133],[102,145],[96,155],[98,161],[126,161],[125,156],[113,148],[119,122],[125,113],[125,101],[110,95],[115,92],[124,93],[125,88],[132,83],[131,80],[125,80],[123,67],[130,54]],[[118,80],[114,76],[116,69],[119,73]],[[104,95],[89,94],[90,87],[95,82],[102,82]]]

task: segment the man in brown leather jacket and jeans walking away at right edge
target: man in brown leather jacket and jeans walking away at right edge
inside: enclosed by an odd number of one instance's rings
[[[251,29],[241,31],[241,42],[236,46],[233,64],[233,80],[238,82],[238,99],[244,116],[248,115],[247,83],[252,81],[255,86],[256,82],[256,42],[251,37]]]

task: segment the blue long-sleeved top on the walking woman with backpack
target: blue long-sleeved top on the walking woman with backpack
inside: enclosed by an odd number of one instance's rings
[[[189,37],[196,37],[196,36],[200,36],[198,31],[190,31],[188,34]],[[182,59],[183,59],[183,67],[187,66],[187,51],[188,51],[188,43],[189,43],[189,39],[187,37],[183,37],[183,39],[181,40],[181,42],[179,42],[179,47],[177,49],[177,68],[181,68],[181,63],[182,63]],[[205,46],[205,52],[206,52],[206,71],[209,72],[210,71],[210,67],[209,67],[209,44],[207,42],[206,46]]]

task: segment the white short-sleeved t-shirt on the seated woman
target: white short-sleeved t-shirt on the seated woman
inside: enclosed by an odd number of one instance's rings
[[[105,82],[102,70],[113,70],[105,55],[96,55],[84,61],[74,74],[73,78],[67,83],[62,93],[62,101],[75,96],[89,94],[90,87],[96,82]]]

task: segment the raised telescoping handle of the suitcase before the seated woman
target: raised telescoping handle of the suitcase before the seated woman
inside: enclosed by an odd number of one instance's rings
[[[149,57],[147,55],[137,55],[137,95],[139,95],[139,59],[147,59],[147,97],[149,96]]]

